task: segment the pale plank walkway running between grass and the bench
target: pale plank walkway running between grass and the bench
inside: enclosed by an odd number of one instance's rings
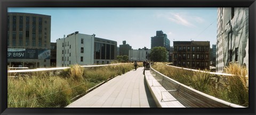
[[[143,68],[117,76],[67,108],[156,108]]]

